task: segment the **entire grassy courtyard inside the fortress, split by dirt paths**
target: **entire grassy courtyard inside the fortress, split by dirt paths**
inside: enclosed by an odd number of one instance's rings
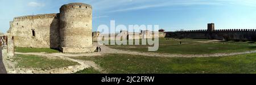
[[[180,41],[182,44],[180,45]],[[141,42],[140,42],[141,43]],[[108,45],[120,50],[148,52],[149,45]],[[207,39],[160,39],[159,50],[155,53],[173,54],[211,54],[236,53],[256,50],[255,42],[210,41]],[[15,48],[15,52],[59,53],[59,50],[48,48]],[[94,61],[104,72],[112,74],[256,74],[256,53],[224,57],[149,57],[132,54],[102,54],[102,56],[70,57],[85,61]],[[24,68],[59,68],[79,63],[58,58],[16,54],[14,61]],[[98,74],[93,67],[77,71],[77,74]]]

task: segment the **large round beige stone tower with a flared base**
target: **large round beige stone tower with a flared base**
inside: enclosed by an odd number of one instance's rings
[[[60,50],[63,53],[93,52],[92,6],[69,3],[60,8]]]

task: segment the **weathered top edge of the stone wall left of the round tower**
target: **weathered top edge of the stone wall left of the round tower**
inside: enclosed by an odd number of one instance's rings
[[[44,19],[44,18],[59,18],[59,14],[39,14],[15,17],[14,21],[27,20],[27,19]]]

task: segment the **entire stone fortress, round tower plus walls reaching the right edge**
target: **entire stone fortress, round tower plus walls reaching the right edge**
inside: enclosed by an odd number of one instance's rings
[[[255,41],[255,29],[215,29],[213,23],[208,29],[164,32],[141,31],[140,33],[120,32],[125,39],[147,39],[154,36],[170,38],[218,39]],[[152,35],[149,35],[151,34]],[[101,34],[104,35],[104,34]],[[105,34],[115,39],[118,33]],[[114,36],[111,36],[114,35]],[[92,6],[85,3],[69,3],[60,7],[60,13],[19,16],[10,22],[7,31],[14,46],[30,48],[59,49],[63,53],[94,52],[93,41],[100,32],[92,32]],[[117,39],[115,39],[117,40]]]

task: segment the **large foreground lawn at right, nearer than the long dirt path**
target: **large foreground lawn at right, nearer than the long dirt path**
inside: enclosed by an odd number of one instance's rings
[[[77,57],[92,60],[105,71],[113,74],[122,73],[228,73],[256,74],[256,53],[228,57],[207,58],[163,58],[129,54],[108,54],[98,57]],[[83,73],[90,73],[83,72]]]

